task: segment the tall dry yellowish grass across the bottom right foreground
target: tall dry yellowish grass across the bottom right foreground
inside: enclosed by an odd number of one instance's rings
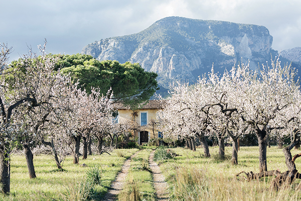
[[[271,180],[239,181],[196,168],[180,167],[170,188],[170,200],[299,200],[301,184],[270,187]]]

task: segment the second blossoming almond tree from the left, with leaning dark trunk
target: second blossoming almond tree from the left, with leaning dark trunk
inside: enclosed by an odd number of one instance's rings
[[[22,124],[22,135],[19,135],[18,141],[25,151],[30,178],[36,177],[31,147],[38,143],[38,137],[45,133],[43,130],[56,123],[62,112],[69,110],[65,107],[70,99],[67,96],[76,89],[70,77],[54,70],[56,58],[47,56],[46,43],[39,48],[41,56],[34,53],[24,55],[3,75],[7,100],[21,97],[35,100],[20,105],[15,110],[14,118]]]

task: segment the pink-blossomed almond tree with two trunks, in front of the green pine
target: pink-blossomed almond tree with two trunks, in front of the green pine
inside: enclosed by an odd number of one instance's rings
[[[65,118],[67,133],[74,141],[73,163],[79,163],[80,140],[83,139],[83,159],[87,158],[88,140],[90,135],[97,133],[95,129],[102,123],[112,124],[112,92],[109,90],[104,96],[99,89],[92,88],[91,93],[85,90],[76,90],[72,100],[72,110]],[[105,117],[111,119],[107,121]],[[100,131],[101,132],[101,131]]]

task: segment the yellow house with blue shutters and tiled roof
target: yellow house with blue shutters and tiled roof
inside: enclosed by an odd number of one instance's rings
[[[163,137],[155,120],[157,112],[166,106],[166,100],[148,100],[141,105],[140,109],[131,110],[122,103],[114,103],[114,108],[118,111],[117,121],[126,119],[133,123],[132,130],[140,145],[148,143],[150,139]]]

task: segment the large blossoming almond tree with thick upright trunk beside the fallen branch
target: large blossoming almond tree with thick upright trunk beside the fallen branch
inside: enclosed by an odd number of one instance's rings
[[[260,172],[267,171],[268,130],[279,129],[274,122],[288,122],[288,116],[280,114],[296,103],[299,85],[294,81],[294,75],[290,66],[281,67],[278,60],[258,72],[251,72],[247,65],[242,65],[233,68],[229,75],[235,88],[231,101],[240,108],[242,119],[258,138]]]

